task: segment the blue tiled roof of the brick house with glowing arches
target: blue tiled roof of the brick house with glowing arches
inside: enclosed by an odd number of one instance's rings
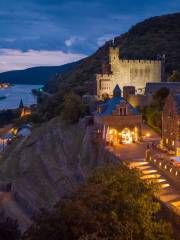
[[[134,108],[131,104],[129,104],[124,98],[120,96],[113,97],[109,100],[104,101],[104,103],[100,104],[99,106],[104,108],[102,113],[98,113],[100,116],[109,116],[112,115],[113,111],[116,109],[116,106],[120,103],[126,103],[130,112],[134,115],[139,115],[140,112]]]

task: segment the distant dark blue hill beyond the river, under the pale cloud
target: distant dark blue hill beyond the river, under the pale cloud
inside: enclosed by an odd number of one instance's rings
[[[25,70],[15,70],[0,73],[0,82],[12,84],[46,84],[57,73],[62,73],[75,67],[77,63],[62,66],[33,67]]]

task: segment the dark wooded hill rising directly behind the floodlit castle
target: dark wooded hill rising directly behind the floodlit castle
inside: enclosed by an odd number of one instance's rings
[[[153,17],[133,26],[127,33],[115,38],[120,47],[120,57],[129,59],[156,59],[158,54],[166,55],[166,77],[173,70],[180,71],[180,13]],[[58,75],[46,85],[46,90],[74,88],[87,92],[93,88],[94,75],[102,71],[102,62],[108,63],[106,42],[92,56],[81,60],[73,70]]]

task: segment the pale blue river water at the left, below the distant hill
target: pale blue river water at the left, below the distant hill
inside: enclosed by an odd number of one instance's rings
[[[0,89],[0,97],[6,96],[5,99],[0,100],[0,110],[17,108],[21,99],[25,106],[35,104],[37,99],[32,95],[31,90],[40,87],[42,85],[13,85],[6,89]]]

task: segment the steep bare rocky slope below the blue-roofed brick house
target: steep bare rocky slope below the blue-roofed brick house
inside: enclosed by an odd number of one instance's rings
[[[7,149],[0,165],[0,186],[3,190],[11,185],[11,196],[1,207],[21,225],[22,219],[40,208],[51,208],[74,191],[101,164],[98,154],[91,128],[67,127],[59,118],[52,119]]]

